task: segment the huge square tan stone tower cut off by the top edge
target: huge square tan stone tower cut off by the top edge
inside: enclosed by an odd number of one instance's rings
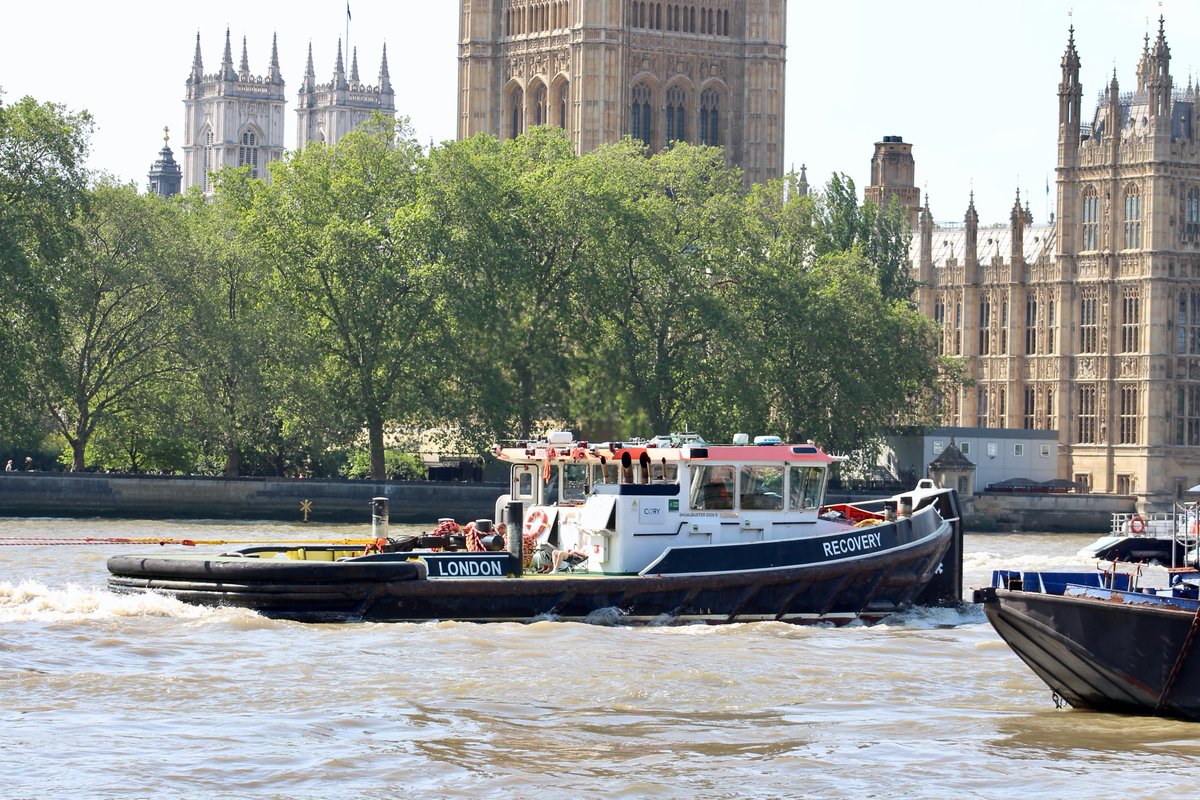
[[[786,0],[461,0],[458,137],[720,145],[782,175]]]

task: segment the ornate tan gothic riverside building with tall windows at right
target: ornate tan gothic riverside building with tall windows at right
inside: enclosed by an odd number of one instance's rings
[[[1180,91],[1159,20],[1133,91],[1091,122],[1068,36],[1058,85],[1057,213],[1034,225],[935,225],[913,239],[920,308],[976,385],[943,423],[1058,432],[1058,475],[1164,509],[1200,483],[1200,102]]]

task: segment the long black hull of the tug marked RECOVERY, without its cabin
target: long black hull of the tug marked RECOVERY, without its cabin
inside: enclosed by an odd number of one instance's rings
[[[860,558],[707,575],[397,579],[389,565],[378,564],[377,573],[347,579],[340,572],[347,564],[245,559],[251,564],[235,565],[240,571],[233,575],[227,561],[194,557],[114,557],[108,566],[114,591],[158,591],[308,621],[846,622],[876,621],[912,606],[938,569],[944,571],[958,540],[955,521],[905,547]],[[313,569],[300,581],[293,565]]]

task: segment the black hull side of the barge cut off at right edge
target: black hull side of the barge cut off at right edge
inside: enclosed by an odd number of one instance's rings
[[[1072,706],[1200,720],[1200,656],[1183,652],[1194,612],[1007,589],[980,590],[977,600],[1001,638]]]

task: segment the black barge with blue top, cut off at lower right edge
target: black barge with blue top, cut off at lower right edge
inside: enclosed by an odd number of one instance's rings
[[[1164,588],[1140,588],[1140,570],[998,570],[977,589],[988,621],[1052,690],[1076,709],[1200,720],[1200,571],[1168,571]]]

